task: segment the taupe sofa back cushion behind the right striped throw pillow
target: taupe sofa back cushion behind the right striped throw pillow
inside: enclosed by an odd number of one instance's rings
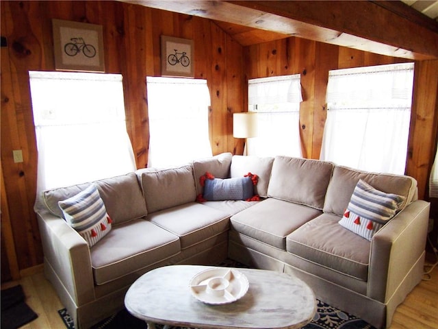
[[[327,188],[324,212],[342,216],[359,180],[367,182],[384,193],[392,193],[404,197],[404,202],[399,208],[400,210],[417,198],[417,181],[409,176],[370,173],[336,166],[333,169],[329,188]]]

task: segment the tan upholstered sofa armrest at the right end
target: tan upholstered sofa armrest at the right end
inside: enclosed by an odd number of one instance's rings
[[[412,202],[374,235],[368,269],[368,297],[386,303],[417,262],[424,263],[429,210],[428,202]],[[420,280],[421,276],[418,282]]]

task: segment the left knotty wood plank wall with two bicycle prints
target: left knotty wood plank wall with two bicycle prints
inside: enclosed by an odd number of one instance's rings
[[[55,69],[51,19],[103,25],[106,72],[123,75],[127,130],[139,168],[146,166],[149,145],[146,76],[160,75],[161,35],[194,40],[194,74],[208,80],[211,92],[214,154],[243,151],[231,133],[232,113],[243,108],[242,46],[212,21],[118,1],[1,1],[1,36],[8,40],[1,48],[1,179],[9,210],[2,211],[2,223],[8,214],[20,270],[42,263],[28,71]],[[14,149],[23,150],[23,163],[13,162]],[[2,281],[11,278],[11,269],[1,270]]]

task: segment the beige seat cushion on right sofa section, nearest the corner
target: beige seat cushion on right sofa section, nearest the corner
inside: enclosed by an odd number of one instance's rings
[[[320,210],[279,199],[266,199],[231,217],[231,228],[272,247],[285,250],[286,236]]]

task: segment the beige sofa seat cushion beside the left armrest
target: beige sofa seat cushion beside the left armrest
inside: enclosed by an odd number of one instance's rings
[[[105,284],[179,254],[178,236],[145,219],[113,226],[92,249],[96,284]]]

